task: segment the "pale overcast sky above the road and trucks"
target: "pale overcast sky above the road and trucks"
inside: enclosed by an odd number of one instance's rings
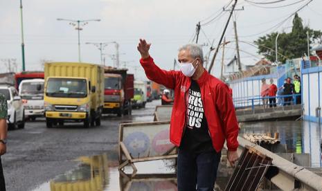
[[[297,1],[257,4],[266,8],[253,6],[243,0],[238,1],[237,8],[244,6],[244,10],[236,12],[235,15],[240,40],[253,42],[265,33],[283,31],[283,28],[289,32],[290,29],[287,27],[292,26],[292,19],[288,19],[278,28],[273,26],[309,0],[285,8],[267,7],[284,6]],[[85,42],[115,41],[120,45],[121,64],[127,62],[130,72],[136,73],[137,79],[145,79],[143,69],[138,64],[140,56],[136,46],[139,38],[145,38],[152,43],[150,54],[161,68],[173,69],[179,46],[190,41],[197,22],[202,21],[202,24],[205,24],[228,3],[229,0],[23,0],[26,70],[39,70],[40,60],[78,61],[77,30],[66,21],[57,21],[57,18],[101,19],[100,22],[89,22],[80,33],[82,62],[100,64],[98,49]],[[310,25],[315,30],[322,30],[321,7],[322,1],[314,0],[298,13],[305,25]],[[199,44],[208,44],[204,46],[205,55],[213,39],[215,39],[214,46],[217,46],[228,15],[229,12],[226,12],[222,17],[218,17],[219,19],[202,26]],[[233,25],[229,24],[226,39],[233,41],[233,34]],[[254,64],[260,59],[255,47],[240,43],[240,48],[242,63]],[[106,64],[113,66],[109,55],[115,54],[114,44],[107,46],[104,53]],[[225,53],[224,59],[227,63],[235,55],[235,44],[229,44]],[[6,58],[17,59],[21,70],[18,0],[0,0],[0,60]],[[212,72],[216,76],[219,75],[221,58],[220,51]]]

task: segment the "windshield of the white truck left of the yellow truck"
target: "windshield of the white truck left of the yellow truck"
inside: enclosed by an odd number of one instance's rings
[[[21,98],[26,100],[42,100],[44,99],[44,83],[22,82],[20,94]]]

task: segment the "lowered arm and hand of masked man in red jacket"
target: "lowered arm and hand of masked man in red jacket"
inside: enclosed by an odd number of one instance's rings
[[[233,99],[229,96],[229,88],[226,84],[219,84],[217,87],[217,108],[220,111],[224,134],[226,136],[226,145],[228,148],[229,162],[235,163],[238,160],[238,122],[233,106]]]

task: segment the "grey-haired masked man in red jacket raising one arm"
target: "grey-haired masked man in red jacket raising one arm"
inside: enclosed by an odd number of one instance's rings
[[[213,190],[225,140],[229,162],[238,160],[238,122],[229,88],[204,69],[199,46],[188,44],[179,49],[181,71],[156,66],[150,46],[140,39],[138,51],[147,78],[175,90],[170,141],[179,147],[178,190]]]

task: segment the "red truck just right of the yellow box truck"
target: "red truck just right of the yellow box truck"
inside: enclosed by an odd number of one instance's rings
[[[105,67],[105,91],[103,113],[116,113],[117,116],[131,115],[134,97],[134,75],[127,69]]]

